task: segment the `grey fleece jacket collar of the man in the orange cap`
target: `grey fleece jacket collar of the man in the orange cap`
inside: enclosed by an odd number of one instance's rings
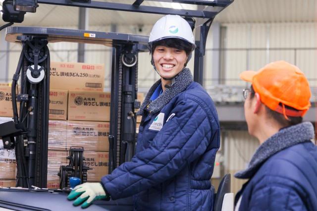
[[[302,122],[284,128],[268,138],[253,155],[247,169],[238,171],[234,176],[240,179],[251,178],[262,163],[274,154],[296,144],[307,142],[315,137],[311,122]]]

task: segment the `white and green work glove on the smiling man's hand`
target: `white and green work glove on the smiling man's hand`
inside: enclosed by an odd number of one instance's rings
[[[95,200],[107,198],[109,198],[109,196],[106,195],[102,184],[98,182],[87,182],[77,185],[67,197],[68,200],[76,199],[73,205],[81,205],[81,208],[89,207]]]

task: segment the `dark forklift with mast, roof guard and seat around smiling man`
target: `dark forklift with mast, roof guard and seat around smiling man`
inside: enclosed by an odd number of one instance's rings
[[[138,92],[138,55],[148,52],[147,36],[69,30],[45,27],[10,26],[21,23],[26,12],[36,12],[39,4],[54,4],[107,10],[131,11],[152,14],[177,14],[196,28],[194,81],[203,83],[203,64],[206,40],[215,15],[233,0],[164,0],[198,5],[196,10],[146,6],[135,0],[130,3],[114,3],[93,0],[4,0],[2,19],[8,22],[7,42],[20,43],[22,51],[16,72],[12,78],[13,121],[0,124],[0,138],[5,149],[14,149],[17,163],[17,187],[0,188],[0,208],[12,210],[47,209],[76,210],[66,199],[71,190],[69,178],[79,177],[87,181],[84,149],[72,149],[69,165],[61,166],[61,189],[47,189],[48,121],[50,91],[50,42],[73,42],[105,45],[112,48],[111,106],[109,131],[109,166],[111,173],[123,162],[130,161],[136,145],[136,114],[140,107]],[[158,0],[159,1],[159,0]],[[203,9],[200,9],[203,8]],[[195,18],[195,19],[194,19]],[[20,81],[19,93],[16,92]],[[19,103],[19,110],[17,104]],[[48,200],[49,199],[49,200]],[[229,203],[225,203],[226,201]],[[232,206],[231,206],[232,204]],[[90,210],[133,210],[132,198],[94,202]],[[230,175],[220,182],[215,197],[214,211],[233,210],[233,194],[230,193]]]

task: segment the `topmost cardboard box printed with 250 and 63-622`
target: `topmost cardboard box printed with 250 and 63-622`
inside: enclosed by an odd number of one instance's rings
[[[50,88],[103,92],[105,64],[51,62]]]

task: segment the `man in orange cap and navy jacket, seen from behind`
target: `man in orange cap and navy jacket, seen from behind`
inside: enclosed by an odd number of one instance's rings
[[[244,71],[243,91],[250,135],[260,147],[248,167],[235,174],[249,179],[237,193],[235,211],[317,211],[317,147],[314,127],[303,122],[311,106],[304,73],[286,61]]]

